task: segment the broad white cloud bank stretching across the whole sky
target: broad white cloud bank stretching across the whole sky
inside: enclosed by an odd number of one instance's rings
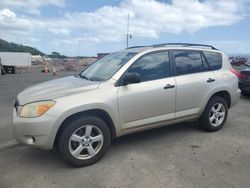
[[[28,40],[27,37],[40,33],[41,38],[45,37],[43,35],[50,36],[43,40],[54,41],[57,46],[60,46],[60,41],[65,44],[65,41],[79,40],[83,43],[118,44],[125,38],[128,13],[130,33],[134,37],[158,38],[162,33],[195,33],[203,28],[235,24],[245,18],[246,2],[124,0],[118,6],[104,6],[92,12],[65,12],[61,17],[45,19],[39,16],[41,7],[62,7],[66,6],[65,1],[1,0],[0,7],[4,8],[0,10],[0,35],[18,41],[19,38]],[[37,16],[23,16],[20,10]]]

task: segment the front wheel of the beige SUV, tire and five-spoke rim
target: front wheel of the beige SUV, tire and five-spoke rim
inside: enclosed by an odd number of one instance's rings
[[[58,138],[58,151],[70,166],[84,167],[99,161],[110,142],[111,134],[105,121],[95,116],[84,116],[64,128]]]

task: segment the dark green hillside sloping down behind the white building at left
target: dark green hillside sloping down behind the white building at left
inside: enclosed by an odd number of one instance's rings
[[[36,48],[32,48],[30,46],[25,46],[22,44],[7,42],[2,39],[0,39],[0,52],[29,52],[32,55],[45,55],[43,52],[37,50]]]

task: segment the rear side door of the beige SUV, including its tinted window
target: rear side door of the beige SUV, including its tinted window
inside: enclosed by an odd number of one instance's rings
[[[176,118],[198,114],[216,79],[204,59],[196,50],[173,50],[175,62]]]

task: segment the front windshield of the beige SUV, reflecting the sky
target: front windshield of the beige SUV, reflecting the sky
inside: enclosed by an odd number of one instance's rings
[[[80,73],[82,78],[93,81],[104,81],[111,78],[136,52],[111,53]]]

